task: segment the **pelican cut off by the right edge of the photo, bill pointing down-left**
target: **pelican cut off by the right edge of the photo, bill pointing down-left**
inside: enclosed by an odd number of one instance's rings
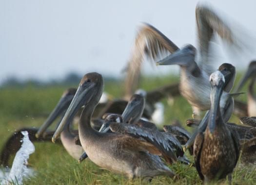
[[[242,86],[246,83],[246,81],[250,78],[252,78],[252,80],[248,88],[248,116],[256,117],[256,94],[254,92],[254,87],[256,84],[256,61],[252,61],[250,63],[247,71],[245,72],[244,76],[242,77],[238,84],[238,87],[236,88],[236,92],[239,91],[242,88]]]

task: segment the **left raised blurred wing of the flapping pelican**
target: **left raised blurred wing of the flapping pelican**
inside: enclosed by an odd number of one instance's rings
[[[160,56],[168,55],[168,52],[173,53],[176,50],[178,50],[178,47],[164,34],[152,25],[144,23],[136,36],[131,57],[128,61],[125,97],[129,99],[138,88],[140,68],[144,56],[157,61]]]

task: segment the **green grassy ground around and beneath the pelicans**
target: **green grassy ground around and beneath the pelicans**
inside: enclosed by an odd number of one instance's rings
[[[175,77],[143,79],[141,87],[150,90],[164,84],[177,82]],[[74,85],[76,87],[77,85]],[[0,89],[0,148],[15,129],[24,126],[39,127],[58,102],[62,92],[67,86],[4,88]],[[115,97],[121,97],[123,86],[121,83],[105,84],[104,90]],[[246,89],[246,88],[245,88]],[[242,95],[239,99],[246,100]],[[190,105],[182,97],[177,97],[174,104],[169,106],[166,100],[162,101],[165,108],[165,124],[178,119],[185,123],[191,118],[192,110]],[[231,121],[238,123],[233,116]],[[190,129],[188,129],[191,131]],[[35,169],[37,175],[27,179],[28,185],[81,185],[81,184],[147,184],[147,181],[136,179],[128,180],[121,175],[114,174],[101,169],[86,159],[82,164],[71,158],[62,146],[53,143],[35,143],[36,152],[29,159],[29,164]],[[190,157],[193,161],[193,158]],[[172,179],[160,176],[153,179],[152,184],[201,184],[197,171],[194,167],[181,164],[170,166],[180,179],[174,182]],[[227,182],[223,182],[226,184]],[[256,167],[243,167],[238,163],[233,173],[233,183],[256,184]]]

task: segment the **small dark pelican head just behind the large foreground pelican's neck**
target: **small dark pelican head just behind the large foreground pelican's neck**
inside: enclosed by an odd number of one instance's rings
[[[109,125],[113,122],[116,123],[122,123],[123,119],[121,115],[118,114],[111,114],[111,113],[106,113],[102,117],[104,119],[104,123],[102,124],[101,128],[99,129],[98,132],[101,133],[106,133],[109,131],[110,127]]]

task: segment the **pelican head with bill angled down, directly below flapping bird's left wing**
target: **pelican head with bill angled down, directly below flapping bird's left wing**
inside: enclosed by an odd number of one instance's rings
[[[123,111],[123,122],[131,124],[137,122],[143,114],[144,107],[144,97],[134,94]]]

